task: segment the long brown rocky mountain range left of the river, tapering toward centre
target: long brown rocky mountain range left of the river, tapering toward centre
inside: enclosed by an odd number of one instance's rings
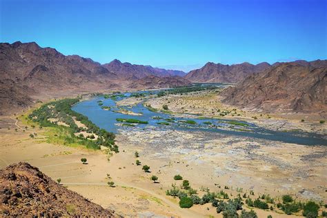
[[[117,90],[128,86],[130,80],[179,73],[118,60],[101,65],[34,42],[0,43],[0,115],[30,106],[36,99]]]

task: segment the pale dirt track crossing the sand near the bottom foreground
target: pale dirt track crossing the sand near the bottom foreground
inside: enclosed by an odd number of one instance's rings
[[[61,183],[61,184],[66,185],[66,186],[108,186],[108,184],[105,184],[105,183],[81,183],[81,182],[69,183],[68,182],[68,183]],[[137,190],[141,190],[142,192],[146,192],[149,195],[152,195],[153,197],[156,197],[157,199],[160,199],[161,201],[163,201],[167,206],[169,206],[169,208],[172,209],[172,212],[178,212],[179,215],[181,215],[181,217],[201,217],[202,216],[201,214],[199,214],[197,212],[180,208],[177,204],[172,203],[165,197],[158,195],[156,192],[153,192],[152,190],[146,190],[144,188],[140,188],[138,186],[133,186],[133,185],[126,184],[126,183],[117,183],[117,186],[126,186],[129,188],[135,188]]]

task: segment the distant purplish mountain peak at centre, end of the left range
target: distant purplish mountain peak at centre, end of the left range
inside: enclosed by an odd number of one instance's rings
[[[156,76],[156,77],[168,77],[168,76],[184,76],[185,72],[180,70],[165,70],[162,68],[152,68],[152,66],[143,66],[132,63],[121,63],[121,61],[115,59],[110,63],[103,64],[107,70],[115,72],[120,79],[136,80],[143,77]]]

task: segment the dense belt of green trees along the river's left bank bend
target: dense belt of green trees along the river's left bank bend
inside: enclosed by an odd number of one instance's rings
[[[52,143],[59,143],[70,146],[86,146],[86,148],[100,149],[100,146],[107,146],[115,152],[119,152],[115,145],[115,134],[100,129],[88,117],[79,114],[71,109],[71,107],[79,102],[79,99],[62,99],[43,104],[37,110],[34,110],[28,119],[34,123],[38,123],[40,128],[47,127],[48,141]],[[74,121],[83,123],[86,128],[78,127]],[[67,126],[57,125],[57,121],[50,121],[56,119],[66,123]],[[75,133],[86,131],[97,135],[97,140],[89,140],[85,137],[77,136]]]

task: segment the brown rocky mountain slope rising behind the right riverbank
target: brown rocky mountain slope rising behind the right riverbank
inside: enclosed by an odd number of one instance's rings
[[[266,112],[327,111],[327,60],[274,64],[221,92],[223,102]]]

